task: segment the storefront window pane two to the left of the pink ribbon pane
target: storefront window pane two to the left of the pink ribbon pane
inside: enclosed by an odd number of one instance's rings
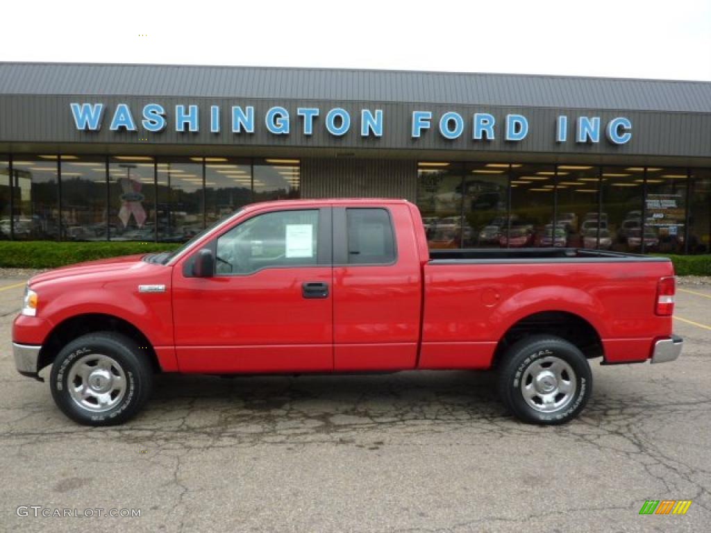
[[[57,156],[13,160],[16,239],[59,238]]]

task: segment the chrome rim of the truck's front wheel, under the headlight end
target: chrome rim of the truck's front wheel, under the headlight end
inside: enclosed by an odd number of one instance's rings
[[[70,395],[82,409],[102,413],[113,409],[126,393],[126,375],[108,355],[84,355],[72,365],[67,377]]]

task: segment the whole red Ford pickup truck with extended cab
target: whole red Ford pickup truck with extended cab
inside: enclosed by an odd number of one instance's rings
[[[405,200],[249,205],[175,252],[34,276],[13,327],[58,407],[122,423],[156,372],[495,369],[518,419],[561,424],[588,360],[675,360],[668,259],[589,249],[429,250]]]

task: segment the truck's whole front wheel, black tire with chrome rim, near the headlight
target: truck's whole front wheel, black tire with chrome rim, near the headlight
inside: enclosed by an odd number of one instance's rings
[[[79,424],[123,424],[149,398],[153,369],[130,338],[118,333],[90,333],[60,350],[52,365],[50,389],[57,407]],[[79,398],[79,391],[87,392],[85,399]]]

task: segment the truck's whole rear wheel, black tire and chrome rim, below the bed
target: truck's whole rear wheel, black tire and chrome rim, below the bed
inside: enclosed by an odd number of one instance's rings
[[[577,346],[553,335],[532,335],[503,355],[498,392],[520,421],[567,424],[580,414],[592,394],[592,372]]]

